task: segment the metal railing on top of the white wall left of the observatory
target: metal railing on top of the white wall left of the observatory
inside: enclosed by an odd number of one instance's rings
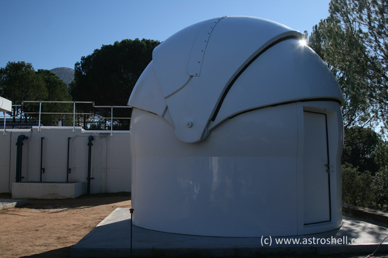
[[[39,112],[23,112],[24,103],[39,103]],[[42,112],[42,103],[72,103],[73,104],[73,112]],[[96,117],[95,113],[82,113],[76,112],[76,104],[92,104],[92,108],[111,108],[111,116],[110,117]],[[38,131],[41,131],[41,116],[45,114],[57,114],[57,115],[73,115],[73,132],[75,132],[76,127],[76,115],[93,115],[91,120],[101,120],[101,119],[110,119],[111,121],[111,136],[113,136],[113,119],[127,119],[130,120],[130,117],[113,117],[113,108],[131,108],[131,106],[95,106],[94,101],[23,101],[21,105],[12,105],[12,106],[20,106],[20,121],[22,121],[23,114],[24,115],[33,115],[38,114]],[[17,116],[10,116],[10,118],[17,118]],[[5,127],[6,127],[6,117],[4,112],[4,132],[5,135]]]

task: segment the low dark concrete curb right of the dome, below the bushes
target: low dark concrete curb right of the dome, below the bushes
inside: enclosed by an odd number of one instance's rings
[[[388,212],[342,204],[342,211],[351,216],[388,225]]]

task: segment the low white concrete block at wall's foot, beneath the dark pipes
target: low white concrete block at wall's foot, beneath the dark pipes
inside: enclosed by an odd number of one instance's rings
[[[65,199],[83,194],[82,182],[15,182],[12,198]]]

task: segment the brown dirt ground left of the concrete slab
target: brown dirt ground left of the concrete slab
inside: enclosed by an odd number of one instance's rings
[[[10,198],[0,194],[0,198]],[[0,257],[65,258],[98,223],[118,207],[130,208],[130,193],[76,199],[30,199],[0,211]]]

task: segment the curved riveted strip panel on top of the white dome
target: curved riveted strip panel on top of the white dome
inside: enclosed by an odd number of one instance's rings
[[[187,73],[190,76],[199,76],[201,74],[202,61],[211,32],[214,30],[217,23],[223,18],[224,17],[209,20],[199,31],[187,64]]]

